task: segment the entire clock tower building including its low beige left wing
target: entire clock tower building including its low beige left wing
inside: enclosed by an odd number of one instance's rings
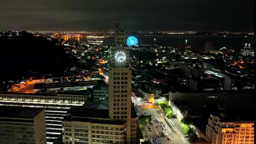
[[[84,111],[84,112],[83,112]],[[125,32],[116,22],[108,71],[108,110],[74,108],[62,122],[64,144],[135,144],[137,115],[131,108],[131,66]],[[77,135],[82,134],[82,135]]]

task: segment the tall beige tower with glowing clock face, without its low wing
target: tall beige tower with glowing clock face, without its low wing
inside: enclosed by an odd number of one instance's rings
[[[129,49],[125,46],[125,32],[115,23],[115,46],[111,48],[108,73],[109,117],[125,121],[127,144],[136,141],[136,118],[131,118],[131,66]]]

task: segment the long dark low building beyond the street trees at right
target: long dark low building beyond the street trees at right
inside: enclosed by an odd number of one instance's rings
[[[249,91],[194,91],[170,92],[169,101],[184,101],[190,108],[204,108],[217,105],[220,108],[252,108],[254,94]]]

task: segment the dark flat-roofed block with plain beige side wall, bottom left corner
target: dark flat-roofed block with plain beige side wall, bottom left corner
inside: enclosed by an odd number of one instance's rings
[[[0,107],[1,144],[46,144],[43,108]]]

